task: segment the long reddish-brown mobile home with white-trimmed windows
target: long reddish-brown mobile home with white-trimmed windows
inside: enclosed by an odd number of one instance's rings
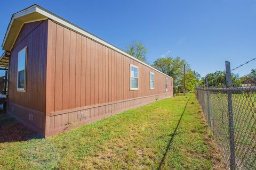
[[[171,77],[38,5],[12,15],[2,48],[7,113],[44,137],[173,96]]]

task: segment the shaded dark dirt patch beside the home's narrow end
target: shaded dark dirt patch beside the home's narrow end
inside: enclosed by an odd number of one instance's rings
[[[28,140],[31,135],[35,134],[33,130],[0,111],[0,143]]]

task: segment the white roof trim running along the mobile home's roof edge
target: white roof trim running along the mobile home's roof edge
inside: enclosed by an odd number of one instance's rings
[[[135,60],[135,61],[137,61],[137,62],[139,62],[139,63],[141,63],[141,64],[143,64],[143,65],[146,65],[146,66],[150,67],[151,69],[153,69],[153,70],[155,70],[155,71],[157,71],[157,72],[159,72],[159,73],[161,73],[161,74],[164,74],[163,72],[161,72],[161,71],[155,69],[154,67],[152,67],[152,66],[150,66],[150,65],[148,65],[148,64],[146,64],[146,63],[144,63],[144,62],[142,62],[142,61],[140,61],[140,60],[138,60],[137,58],[135,58],[135,57],[133,57],[133,56],[131,56],[131,55],[125,53],[123,50],[121,50],[121,49],[119,49],[119,48],[117,48],[117,47],[115,47],[115,46],[113,46],[113,45],[107,43],[106,41],[100,39],[99,37],[92,35],[91,33],[89,33],[89,32],[87,32],[87,31],[83,30],[82,28],[77,27],[76,25],[74,25],[74,24],[72,24],[72,23],[66,21],[65,19],[60,18],[59,16],[57,16],[57,15],[55,15],[55,14],[53,14],[53,13],[47,11],[47,10],[45,10],[44,8],[42,8],[42,7],[38,6],[38,5],[33,5],[33,6],[31,6],[31,7],[28,7],[28,8],[25,9],[25,10],[22,10],[22,11],[20,11],[20,12],[18,12],[18,13],[13,14],[12,19],[11,19],[11,22],[10,22],[10,24],[9,24],[9,27],[8,27],[8,29],[7,29],[7,31],[6,31],[6,34],[5,34],[5,37],[4,37],[4,41],[3,41],[2,47],[3,47],[4,44],[5,44],[5,41],[6,41],[7,35],[8,35],[8,33],[9,33],[9,31],[10,31],[10,28],[11,28],[11,25],[12,25],[13,20],[14,20],[14,19],[17,19],[17,18],[19,18],[19,17],[21,17],[21,16],[24,16],[24,15],[27,15],[27,14],[30,14],[30,13],[33,13],[33,12],[37,12],[37,13],[39,13],[39,14],[42,14],[42,15],[46,16],[46,18],[49,18],[49,19],[51,19],[51,20],[53,20],[53,21],[55,21],[55,22],[57,22],[57,23],[59,23],[59,24],[65,26],[65,27],[67,27],[67,28],[69,28],[69,29],[71,29],[71,30],[74,30],[74,31],[76,31],[76,32],[78,32],[78,33],[81,33],[81,35],[84,35],[84,36],[86,36],[86,37],[88,37],[88,38],[91,38],[91,39],[93,39],[94,41],[97,41],[98,43],[100,43],[100,44],[102,44],[102,45],[105,45],[105,46],[107,46],[107,47],[109,47],[109,48],[111,48],[111,49],[114,49],[114,50],[116,50],[117,52],[119,52],[119,53],[121,53],[121,54],[123,54],[123,55],[125,55],[125,56],[127,56],[127,57],[130,57],[130,58],[132,58],[133,60]],[[170,76],[167,75],[167,74],[164,74],[164,75],[165,75],[166,77],[172,78],[172,77],[170,77]]]

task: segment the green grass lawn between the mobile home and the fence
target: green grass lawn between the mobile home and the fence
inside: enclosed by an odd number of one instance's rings
[[[194,95],[164,99],[52,138],[0,143],[0,169],[211,169],[220,156],[202,115]]]

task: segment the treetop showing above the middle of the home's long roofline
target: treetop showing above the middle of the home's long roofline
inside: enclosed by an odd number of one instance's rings
[[[142,62],[147,62],[146,54],[148,50],[143,45],[143,43],[137,43],[135,41],[132,41],[132,43],[126,47],[125,52]]]

